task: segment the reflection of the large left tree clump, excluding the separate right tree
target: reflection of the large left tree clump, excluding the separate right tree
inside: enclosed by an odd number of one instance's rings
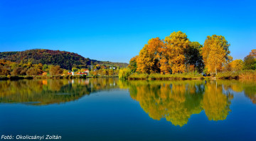
[[[183,126],[192,114],[200,113],[204,87],[202,81],[158,82],[131,81],[130,95],[138,100],[144,111],[154,120],[166,118]]]

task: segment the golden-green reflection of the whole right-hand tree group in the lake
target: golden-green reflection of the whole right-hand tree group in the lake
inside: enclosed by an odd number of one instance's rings
[[[225,120],[231,111],[234,92],[244,92],[252,103],[256,100],[254,81],[124,81],[121,84],[149,117],[164,118],[179,126],[186,125],[191,115],[202,110],[208,120]]]

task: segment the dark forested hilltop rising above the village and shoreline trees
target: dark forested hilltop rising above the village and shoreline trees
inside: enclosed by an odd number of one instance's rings
[[[109,61],[96,61],[90,58],[84,58],[78,53],[70,53],[68,51],[53,51],[48,49],[32,49],[27,51],[11,51],[1,52],[0,59],[16,63],[43,63],[47,65],[60,66],[71,70],[73,67],[88,68],[90,65],[107,64],[112,66],[126,67],[127,63],[112,63]]]

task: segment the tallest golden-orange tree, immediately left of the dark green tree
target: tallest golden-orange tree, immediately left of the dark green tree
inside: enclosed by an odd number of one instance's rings
[[[166,36],[164,41],[172,73],[183,73],[186,68],[184,53],[189,44],[186,33],[173,32],[170,36]]]

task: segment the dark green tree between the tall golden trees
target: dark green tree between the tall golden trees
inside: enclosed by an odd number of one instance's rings
[[[185,50],[186,67],[188,70],[196,70],[201,73],[203,71],[203,56],[201,56],[201,48],[203,46],[197,41],[189,43],[188,48]]]

